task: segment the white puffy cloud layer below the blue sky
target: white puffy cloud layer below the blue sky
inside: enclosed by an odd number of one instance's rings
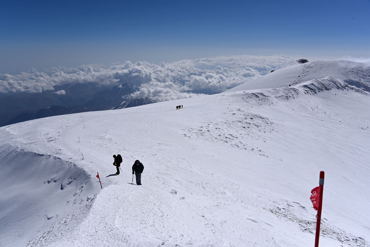
[[[42,92],[54,90],[55,85],[75,82],[110,87],[127,83],[137,87],[137,91],[130,95],[132,98],[167,101],[195,97],[199,93],[219,93],[292,61],[286,55],[238,55],[161,64],[126,61],[109,66],[57,67],[43,72],[31,69],[18,75],[0,74],[0,92]]]

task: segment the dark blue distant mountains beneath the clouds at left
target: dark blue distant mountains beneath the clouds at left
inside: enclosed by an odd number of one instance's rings
[[[107,88],[92,83],[71,83],[54,86],[54,89],[41,93],[1,94],[0,126],[48,116],[122,109],[154,103],[148,98],[125,97],[136,91],[135,87],[128,84]]]

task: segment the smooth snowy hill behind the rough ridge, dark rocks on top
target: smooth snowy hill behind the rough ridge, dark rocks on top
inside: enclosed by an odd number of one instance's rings
[[[280,88],[289,85],[332,76],[345,80],[348,84],[364,88],[370,92],[370,67],[359,62],[347,60],[311,61],[305,64],[293,62],[287,67],[270,72],[262,77],[231,88],[225,92],[238,90]]]

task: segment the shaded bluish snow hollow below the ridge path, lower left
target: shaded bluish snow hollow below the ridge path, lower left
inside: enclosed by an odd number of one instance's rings
[[[11,146],[0,157],[0,246],[24,246],[93,195],[90,176],[72,162]]]

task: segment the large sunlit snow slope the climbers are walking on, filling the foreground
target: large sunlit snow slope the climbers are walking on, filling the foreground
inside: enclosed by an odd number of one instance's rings
[[[320,246],[370,246],[369,106],[328,76],[2,127],[0,245],[310,246],[324,170]]]

